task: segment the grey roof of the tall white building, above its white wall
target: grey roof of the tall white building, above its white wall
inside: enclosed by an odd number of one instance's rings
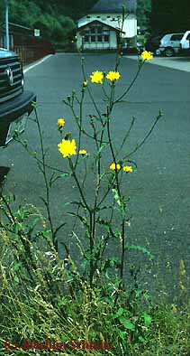
[[[121,14],[122,5],[124,5],[129,12],[136,12],[137,0],[99,0],[91,8],[89,14]]]

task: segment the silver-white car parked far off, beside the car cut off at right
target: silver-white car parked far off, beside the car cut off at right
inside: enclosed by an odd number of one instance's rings
[[[180,41],[184,33],[167,33],[165,34],[159,44],[160,54],[165,55],[166,57],[175,56],[180,51]]]

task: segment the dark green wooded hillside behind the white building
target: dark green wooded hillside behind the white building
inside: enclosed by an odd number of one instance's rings
[[[95,5],[96,0],[9,0],[9,20],[26,27],[39,28],[54,44],[67,43],[76,31],[76,21]],[[149,25],[151,0],[138,1],[138,24]],[[5,2],[0,2],[0,20],[5,21]]]

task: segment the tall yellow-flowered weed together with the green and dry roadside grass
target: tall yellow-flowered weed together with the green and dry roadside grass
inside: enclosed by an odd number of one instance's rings
[[[135,260],[132,265],[128,263],[129,251],[138,251],[154,263],[155,257],[146,246],[128,243],[127,186],[129,175],[137,168],[131,154],[145,144],[164,118],[158,112],[140,144],[128,152],[126,147],[135,118],[128,117],[129,128],[123,130],[121,145],[116,146],[113,109],[127,97],[144,63],[151,59],[150,52],[141,53],[135,78],[118,95],[120,54],[113,70],[104,73],[95,69],[90,76],[86,76],[85,60],[80,56],[81,89],[73,90],[63,99],[70,117],[59,117],[55,124],[61,167],[48,163],[35,103],[31,119],[38,130],[39,152],[33,151],[32,144],[14,132],[14,140],[32,155],[43,175],[45,196],[41,200],[47,214],[43,217],[30,201],[15,208],[16,197],[2,191],[1,355],[190,354],[189,281],[184,262],[179,266],[179,296],[173,304],[167,296],[163,300],[153,299],[149,290],[140,287]],[[94,89],[102,92],[104,110],[95,101]],[[86,96],[92,103],[87,120],[84,119]],[[71,118],[73,126],[77,126],[77,137],[67,129]],[[93,144],[89,145],[90,142]],[[75,200],[63,200],[64,220],[55,226],[51,188],[58,181],[63,190],[66,181],[75,183],[77,190]],[[86,194],[89,182],[90,197]],[[75,240],[77,256],[69,248],[68,235],[64,236],[68,216],[73,219],[69,239],[71,236]],[[60,244],[64,258],[59,256]],[[110,249],[112,245],[114,249]],[[133,280],[131,285],[126,281],[127,272]]]

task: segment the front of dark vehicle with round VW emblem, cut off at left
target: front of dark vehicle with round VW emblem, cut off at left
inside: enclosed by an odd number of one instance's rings
[[[23,65],[15,52],[0,48],[0,147],[12,139],[14,130],[23,132],[36,96],[23,89]]]

